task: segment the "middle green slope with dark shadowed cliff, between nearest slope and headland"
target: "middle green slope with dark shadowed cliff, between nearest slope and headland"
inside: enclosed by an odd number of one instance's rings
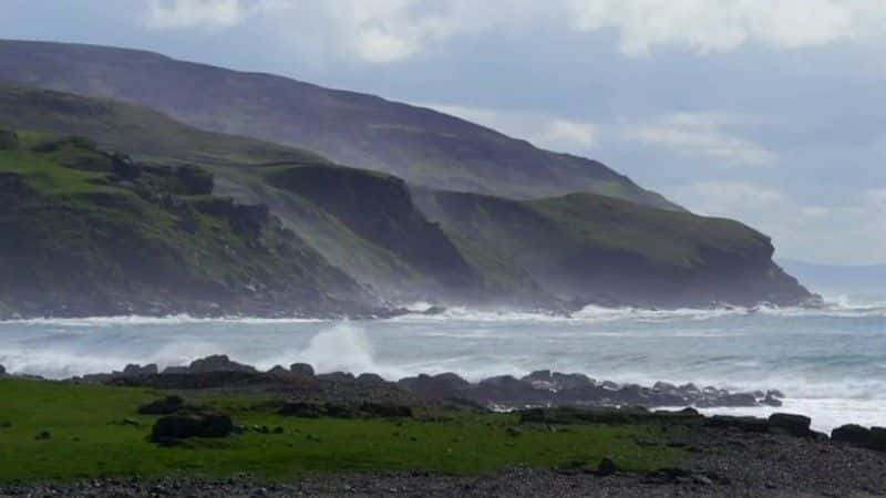
[[[204,132],[136,105],[25,86],[0,84],[0,123],[85,135],[143,162],[199,164],[215,175],[218,193],[268,205],[331,264],[390,300],[440,298],[453,287],[465,299],[480,292],[474,270],[423,219],[396,178],[336,166],[298,148]]]

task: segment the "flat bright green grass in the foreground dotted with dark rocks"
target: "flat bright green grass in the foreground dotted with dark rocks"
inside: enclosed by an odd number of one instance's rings
[[[268,396],[195,395],[247,430],[184,447],[147,442],[156,417],[136,414],[163,393],[140,388],[0,380],[0,481],[181,473],[226,477],[249,473],[285,479],[305,473],[425,470],[477,474],[515,465],[550,468],[612,458],[626,470],[653,470],[682,455],[653,439],[655,426],[518,425],[508,414],[446,412],[405,421],[305,419],[277,415]],[[130,421],[124,424],[124,419]],[[132,422],[137,422],[134,425]],[[48,434],[43,434],[48,433]]]

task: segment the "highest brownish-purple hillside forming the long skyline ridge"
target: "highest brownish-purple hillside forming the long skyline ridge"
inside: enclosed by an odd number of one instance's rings
[[[427,108],[268,74],[103,46],[0,41],[0,80],[138,103],[205,129],[316,151],[432,188],[591,191],[677,208],[607,166]]]

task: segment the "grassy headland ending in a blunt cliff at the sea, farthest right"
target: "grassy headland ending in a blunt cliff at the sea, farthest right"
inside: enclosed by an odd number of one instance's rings
[[[810,298],[770,239],[727,219],[575,194],[515,201],[416,191],[430,219],[564,299],[606,304],[792,304]]]

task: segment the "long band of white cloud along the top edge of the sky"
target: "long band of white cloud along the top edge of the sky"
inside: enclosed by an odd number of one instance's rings
[[[818,46],[886,34],[882,0],[144,0],[156,29],[226,28],[253,17],[278,35],[324,44],[370,63],[408,59],[453,38],[539,25],[611,31],[620,50],[698,53],[749,43]]]

